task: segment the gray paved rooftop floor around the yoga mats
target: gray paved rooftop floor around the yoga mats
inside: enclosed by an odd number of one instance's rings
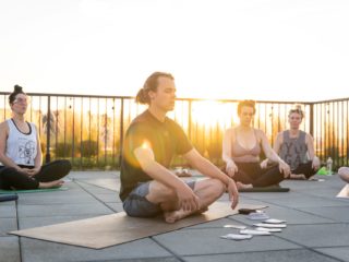
[[[345,183],[284,181],[287,193],[241,193],[240,203],[263,204],[287,228],[273,236],[233,241],[226,224],[252,225],[244,215],[94,250],[7,235],[8,231],[95,217],[122,211],[118,192],[95,186],[96,179],[119,181],[117,171],[72,171],[67,191],[21,193],[16,202],[0,202],[0,261],[349,261],[349,199],[337,199]],[[112,180],[110,180],[112,179]],[[227,202],[227,195],[219,201]],[[228,202],[227,202],[228,204]]]

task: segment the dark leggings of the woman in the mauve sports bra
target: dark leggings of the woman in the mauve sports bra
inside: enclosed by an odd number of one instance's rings
[[[261,168],[260,163],[236,163],[238,172],[234,174],[232,179],[242,183],[252,183],[255,188],[269,187],[278,184],[285,177],[280,172],[278,165]]]

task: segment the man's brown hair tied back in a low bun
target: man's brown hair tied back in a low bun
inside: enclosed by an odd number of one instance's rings
[[[135,102],[140,104],[151,104],[151,97],[148,95],[149,91],[156,92],[159,78],[168,78],[174,80],[170,73],[154,72],[145,81],[143,87],[139,91]]]

